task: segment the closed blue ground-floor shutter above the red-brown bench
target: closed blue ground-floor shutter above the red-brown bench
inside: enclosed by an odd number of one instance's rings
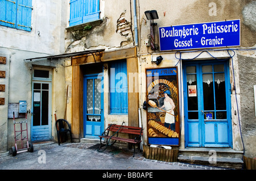
[[[110,64],[110,113],[128,113],[128,86],[126,61]]]

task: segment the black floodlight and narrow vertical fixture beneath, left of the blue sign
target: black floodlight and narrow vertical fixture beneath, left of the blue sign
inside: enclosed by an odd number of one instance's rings
[[[157,23],[154,23],[154,19],[158,19],[158,12],[156,10],[151,10],[145,11],[144,13],[147,19],[150,20],[150,47],[152,50],[156,50],[158,49],[158,45],[155,44],[154,26],[156,26]]]

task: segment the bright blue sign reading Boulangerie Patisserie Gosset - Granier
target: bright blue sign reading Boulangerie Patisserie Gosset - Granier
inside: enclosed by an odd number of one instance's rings
[[[160,51],[240,46],[240,19],[159,27]]]

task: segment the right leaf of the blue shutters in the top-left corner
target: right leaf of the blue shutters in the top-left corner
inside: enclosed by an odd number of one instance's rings
[[[16,28],[31,31],[31,13],[33,9],[32,0],[18,0],[17,3],[18,9]]]

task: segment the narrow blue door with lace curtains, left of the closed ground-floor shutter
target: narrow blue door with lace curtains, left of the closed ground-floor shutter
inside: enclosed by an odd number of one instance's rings
[[[104,131],[103,77],[84,75],[84,137],[99,138]]]

